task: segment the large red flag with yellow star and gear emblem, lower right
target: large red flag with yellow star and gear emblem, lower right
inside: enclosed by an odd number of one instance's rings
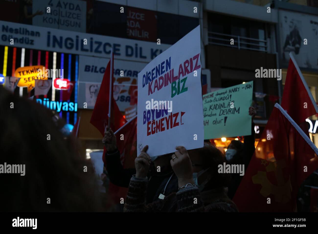
[[[233,201],[241,212],[295,211],[301,182],[318,167],[318,149],[278,103],[260,139]]]

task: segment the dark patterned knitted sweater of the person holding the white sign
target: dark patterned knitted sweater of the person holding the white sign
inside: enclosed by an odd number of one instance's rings
[[[197,187],[187,187],[146,205],[147,185],[147,178],[130,180],[124,212],[238,212],[223,188],[200,193]]]

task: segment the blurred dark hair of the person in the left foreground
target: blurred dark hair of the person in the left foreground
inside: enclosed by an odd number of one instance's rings
[[[0,123],[0,164],[25,164],[24,176],[0,175],[3,211],[101,211],[92,165],[44,106],[0,86]]]

